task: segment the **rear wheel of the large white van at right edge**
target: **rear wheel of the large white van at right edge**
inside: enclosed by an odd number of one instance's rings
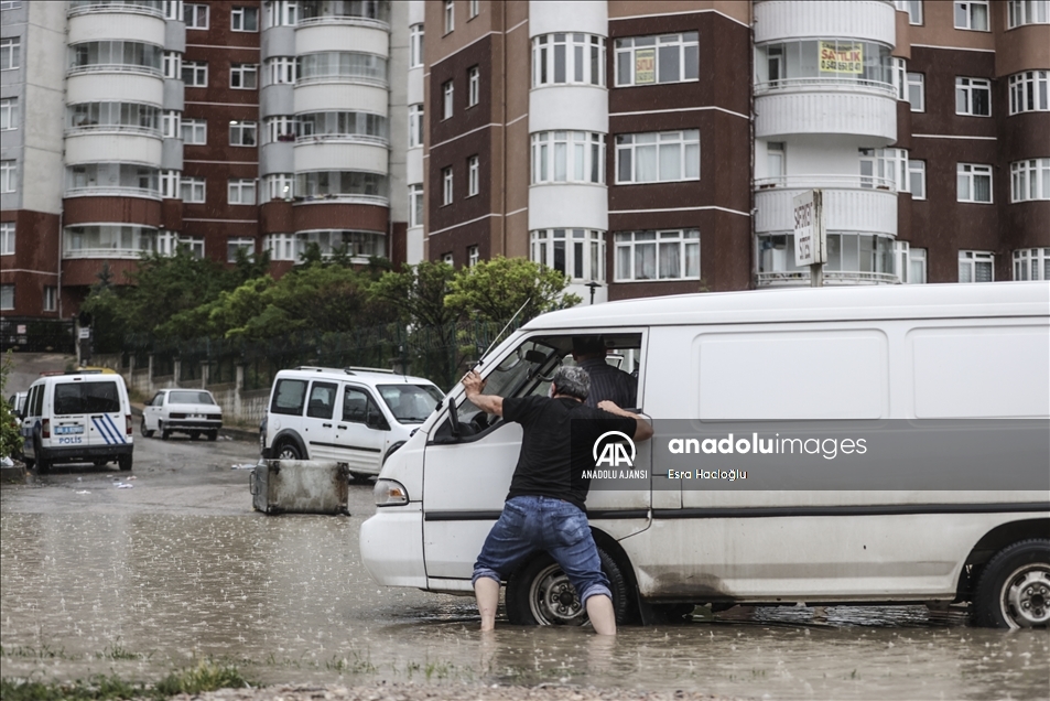
[[[988,560],[977,579],[974,623],[986,628],[1050,625],[1050,540],[1020,540]]]

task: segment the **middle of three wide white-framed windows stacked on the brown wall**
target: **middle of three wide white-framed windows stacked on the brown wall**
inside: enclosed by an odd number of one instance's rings
[[[626,133],[616,137],[616,182],[700,180],[700,131]]]

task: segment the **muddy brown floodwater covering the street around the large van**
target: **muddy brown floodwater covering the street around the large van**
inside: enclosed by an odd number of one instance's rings
[[[784,699],[1050,695],[1048,632],[971,628],[961,613],[917,606],[735,610],[625,628],[614,641],[505,625],[483,639],[472,600],[376,585],[357,556],[360,521],[4,508],[2,673],[155,678],[215,656],[263,682],[551,682]]]

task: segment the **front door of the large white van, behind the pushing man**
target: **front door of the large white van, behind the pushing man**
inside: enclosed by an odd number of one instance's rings
[[[577,332],[580,333],[580,332]],[[603,333],[602,330],[586,333]],[[610,337],[613,333],[608,332]],[[638,345],[628,357],[638,358],[643,334],[630,333]],[[496,362],[486,363],[485,393],[501,397],[546,395],[549,378],[562,363],[572,364],[572,335],[537,332],[524,337]],[[423,459],[423,557],[431,580],[468,581],[474,561],[492,524],[499,518],[518,463],[521,427],[487,417],[458,393],[457,414],[462,422],[459,442],[451,435],[448,410],[432,431]],[[641,396],[639,389],[639,396]],[[639,450],[636,467],[649,468],[650,452]],[[643,464],[645,462],[645,464]],[[648,527],[650,494],[597,492],[587,499],[592,524],[614,537],[625,537]],[[603,511],[615,519],[603,520]],[[447,585],[446,585],[447,586]]]

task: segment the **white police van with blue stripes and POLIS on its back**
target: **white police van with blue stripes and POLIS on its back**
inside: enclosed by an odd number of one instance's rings
[[[46,473],[55,463],[117,461],[131,470],[131,405],[123,378],[85,370],[51,374],[29,388],[22,416],[25,464]]]

